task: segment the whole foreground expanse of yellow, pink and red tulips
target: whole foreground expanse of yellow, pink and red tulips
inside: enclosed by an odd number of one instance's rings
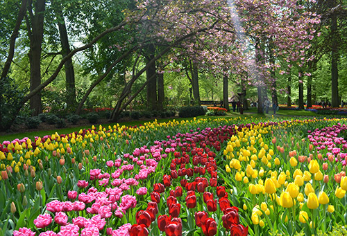
[[[347,120],[203,118],[0,145],[0,235],[281,235],[347,223]]]

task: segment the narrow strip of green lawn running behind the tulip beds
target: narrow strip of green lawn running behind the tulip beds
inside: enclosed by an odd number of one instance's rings
[[[257,114],[257,109],[255,107],[252,107],[248,111],[244,111],[244,114],[239,114],[238,112],[228,112],[226,116],[220,116],[221,118],[268,118],[269,120],[272,119],[273,116],[273,111],[269,111],[269,114]],[[305,111],[305,110],[280,110],[276,112],[275,116],[282,116],[283,118],[288,117],[292,118],[295,116],[298,117],[336,117],[336,116],[325,116],[325,115],[317,115],[312,111]],[[197,118],[217,118],[216,116],[198,116]],[[346,116],[341,116],[341,117],[346,117]],[[162,118],[158,119],[158,122],[168,122],[169,120],[173,120],[173,118]],[[175,120],[192,120],[192,118],[175,118]],[[126,125],[126,126],[135,126],[135,125],[143,125],[145,122],[153,122],[154,118],[151,120],[132,120],[128,122],[119,122],[119,125]],[[101,124],[103,127],[108,127],[109,125],[112,127],[116,123],[106,123],[106,124]],[[96,126],[96,125],[95,125]],[[8,135],[3,135],[0,136],[0,143],[2,143],[4,140],[14,140],[16,138],[22,139],[25,137],[31,138],[31,140],[35,139],[35,136],[43,137],[46,135],[51,135],[55,134],[58,132],[58,134],[70,134],[74,131],[79,131],[80,129],[89,129],[92,127],[92,125],[87,125],[87,126],[81,126],[81,127],[72,127],[72,128],[65,128],[65,129],[53,129],[53,130],[42,130],[42,131],[31,131],[31,132],[26,132],[26,133],[17,133],[17,134],[8,134]],[[96,126],[99,127],[99,124]]]

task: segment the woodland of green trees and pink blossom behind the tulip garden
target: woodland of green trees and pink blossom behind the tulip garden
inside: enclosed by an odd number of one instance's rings
[[[259,112],[264,96],[301,107],[330,98],[336,107],[346,99],[346,1],[3,0],[0,6],[1,129],[19,111],[116,107],[115,120],[133,103],[226,105],[240,92],[259,102]]]

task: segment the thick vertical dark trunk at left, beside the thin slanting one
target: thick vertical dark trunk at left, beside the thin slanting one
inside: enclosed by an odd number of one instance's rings
[[[33,91],[41,84],[41,51],[42,39],[44,34],[44,10],[45,0],[37,0],[35,2],[35,15],[28,6],[30,14],[30,27],[28,27],[28,34],[30,38],[30,51],[28,53],[30,62],[30,91]],[[30,98],[30,109],[33,110],[33,116],[42,113],[42,102],[40,93]]]

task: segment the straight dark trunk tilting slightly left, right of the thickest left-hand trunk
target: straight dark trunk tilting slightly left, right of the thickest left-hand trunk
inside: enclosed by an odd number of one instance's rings
[[[60,35],[60,42],[62,44],[62,57],[67,56],[69,53],[71,53],[70,45],[69,45],[69,38],[67,37],[67,30],[65,25],[65,19],[62,15],[62,11],[59,8],[57,10],[57,15],[60,21],[58,21],[58,28],[59,28],[59,35]],[[69,59],[65,62],[65,88],[67,91],[66,96],[66,104],[67,104],[67,111],[73,111],[76,109],[76,87],[75,87],[75,72],[74,72],[74,64],[72,64],[72,59],[69,57]]]

